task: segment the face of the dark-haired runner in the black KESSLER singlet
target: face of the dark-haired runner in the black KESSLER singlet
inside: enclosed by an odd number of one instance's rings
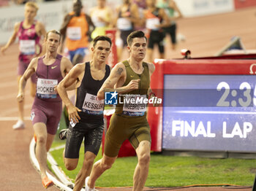
[[[91,47],[91,51],[96,61],[105,62],[111,52],[110,43],[108,41],[98,41],[95,47]]]

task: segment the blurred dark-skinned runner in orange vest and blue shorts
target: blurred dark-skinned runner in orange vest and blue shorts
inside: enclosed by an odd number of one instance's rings
[[[64,17],[61,25],[61,52],[63,52],[64,39],[69,53],[69,59],[73,65],[82,63],[89,46],[91,32],[94,31],[94,24],[91,17],[82,12],[83,5],[80,0],[73,1],[73,11]]]

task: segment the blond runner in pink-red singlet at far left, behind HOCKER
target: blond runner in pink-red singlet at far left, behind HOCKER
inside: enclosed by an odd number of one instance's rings
[[[34,2],[27,2],[25,4],[25,19],[14,26],[14,31],[7,44],[1,47],[1,52],[4,52],[15,42],[16,37],[19,39],[19,63],[18,63],[18,82],[24,71],[28,68],[32,58],[39,55],[41,52],[41,45],[39,44],[40,37],[45,36],[45,27],[34,17],[37,16],[39,7]],[[31,76],[31,96],[36,94],[36,76]],[[24,101],[18,102],[19,120],[12,126],[13,129],[25,128],[24,123]]]

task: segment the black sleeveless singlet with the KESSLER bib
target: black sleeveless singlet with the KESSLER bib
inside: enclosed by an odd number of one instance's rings
[[[83,120],[85,122],[88,120],[102,120],[104,100],[98,100],[97,93],[110,74],[110,66],[105,66],[105,77],[101,80],[91,77],[91,66],[89,62],[86,62],[85,66],[86,70],[81,85],[77,89],[75,106],[82,110],[82,112],[79,112],[82,122]]]

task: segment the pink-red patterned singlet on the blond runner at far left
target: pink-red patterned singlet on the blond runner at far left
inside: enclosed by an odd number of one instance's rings
[[[18,39],[19,39],[19,61],[24,63],[29,63],[34,55],[38,55],[41,52],[41,45],[39,44],[40,36],[37,35],[36,23],[31,25],[30,28],[23,28],[23,21],[20,22],[20,27],[18,29]]]

